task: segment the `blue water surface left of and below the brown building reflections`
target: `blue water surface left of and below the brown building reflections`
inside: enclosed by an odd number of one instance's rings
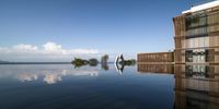
[[[0,107],[172,109],[172,75],[145,76],[137,74],[136,66],[124,66],[123,75],[118,75],[114,64],[108,65],[107,72],[101,65],[80,69],[71,64],[0,65]]]

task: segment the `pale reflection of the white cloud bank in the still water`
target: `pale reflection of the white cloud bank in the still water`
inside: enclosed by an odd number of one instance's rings
[[[33,65],[35,66],[35,65]],[[68,66],[68,65],[67,65]],[[30,66],[31,68],[31,66]],[[30,69],[30,68],[16,68],[16,69],[4,69],[1,68],[0,77],[12,76],[21,82],[31,81],[44,81],[47,84],[55,84],[65,76],[97,76],[99,71],[96,69],[72,69],[70,65],[68,68],[59,66],[48,66],[41,69]]]

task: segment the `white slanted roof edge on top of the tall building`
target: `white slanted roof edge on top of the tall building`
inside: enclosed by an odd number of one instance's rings
[[[184,13],[189,13],[189,12],[201,11],[201,10],[206,10],[206,9],[214,8],[217,5],[219,5],[219,0],[215,0],[215,1],[204,3],[200,5],[192,7],[189,10],[183,11],[182,13],[184,14]]]

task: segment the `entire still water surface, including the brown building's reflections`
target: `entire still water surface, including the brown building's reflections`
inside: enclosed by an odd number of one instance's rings
[[[217,66],[5,64],[0,109],[218,109],[218,80]]]

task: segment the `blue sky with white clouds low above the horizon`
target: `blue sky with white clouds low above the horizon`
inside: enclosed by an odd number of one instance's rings
[[[174,49],[172,17],[203,0],[0,0],[0,60],[71,61]],[[112,56],[112,57],[111,57]]]

